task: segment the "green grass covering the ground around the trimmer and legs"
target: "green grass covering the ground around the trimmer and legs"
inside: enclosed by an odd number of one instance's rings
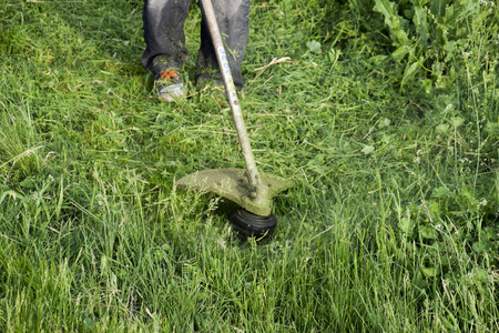
[[[150,99],[142,1],[1,2],[0,331],[497,331],[499,9],[401,1],[398,59],[375,2],[252,3],[241,103],[295,181],[261,242],[173,186],[244,163],[223,99]]]

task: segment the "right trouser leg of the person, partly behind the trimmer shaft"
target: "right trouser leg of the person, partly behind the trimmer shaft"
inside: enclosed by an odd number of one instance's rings
[[[212,0],[225,49],[230,53],[228,65],[237,89],[243,89],[241,63],[246,51],[249,30],[249,0]],[[201,21],[201,48],[197,54],[197,84],[205,80],[215,80],[223,84],[216,61],[215,50],[207,23],[204,19],[203,6],[200,2],[203,19]]]

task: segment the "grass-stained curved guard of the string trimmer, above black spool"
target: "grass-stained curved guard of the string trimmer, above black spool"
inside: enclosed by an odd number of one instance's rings
[[[246,211],[268,216],[272,211],[272,198],[281,191],[293,186],[293,181],[275,175],[259,174],[261,184],[256,189],[255,198],[249,189],[246,170],[243,169],[211,169],[185,175],[176,182],[179,189],[213,192],[226,198]]]

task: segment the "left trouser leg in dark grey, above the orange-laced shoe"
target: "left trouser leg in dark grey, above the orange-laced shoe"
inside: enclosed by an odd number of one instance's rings
[[[144,0],[142,19],[146,49],[142,63],[159,79],[164,70],[182,69],[189,52],[184,22],[190,0]]]

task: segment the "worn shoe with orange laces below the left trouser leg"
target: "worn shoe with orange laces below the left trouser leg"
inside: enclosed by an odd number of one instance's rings
[[[161,102],[173,102],[185,98],[182,78],[176,70],[164,70],[154,77],[153,97]]]

